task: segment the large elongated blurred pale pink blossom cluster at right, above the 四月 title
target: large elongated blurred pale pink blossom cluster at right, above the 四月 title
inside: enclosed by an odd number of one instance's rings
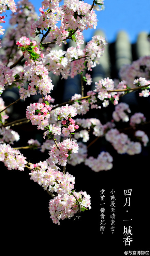
[[[111,129],[105,134],[105,139],[109,141],[118,154],[136,155],[141,153],[141,144],[130,141],[127,134],[120,133],[117,129]]]

